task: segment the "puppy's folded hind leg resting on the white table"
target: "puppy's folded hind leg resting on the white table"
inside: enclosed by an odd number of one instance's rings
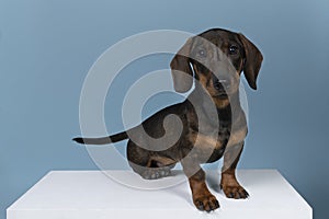
[[[132,140],[127,145],[127,159],[132,169],[146,180],[157,180],[171,175],[175,161],[136,146]]]

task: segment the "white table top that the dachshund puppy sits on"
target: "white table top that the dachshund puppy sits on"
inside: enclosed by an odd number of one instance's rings
[[[140,181],[128,171],[111,173]],[[311,218],[311,208],[277,171],[241,170],[237,175],[250,194],[246,200],[226,198],[219,191],[219,173],[207,172],[208,187],[220,209],[206,214],[193,206],[186,181],[170,188],[145,191],[121,185],[99,171],[53,171],[7,209],[7,218]],[[172,177],[184,175],[177,172]]]

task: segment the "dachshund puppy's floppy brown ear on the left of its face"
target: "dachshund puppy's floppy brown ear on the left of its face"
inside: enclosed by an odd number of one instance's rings
[[[173,88],[180,93],[188,92],[193,85],[193,71],[189,58],[192,41],[192,37],[189,38],[170,62]]]

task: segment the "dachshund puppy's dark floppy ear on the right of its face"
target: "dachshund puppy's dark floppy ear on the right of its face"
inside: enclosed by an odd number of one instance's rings
[[[242,34],[238,34],[245,47],[243,73],[250,88],[257,90],[256,80],[263,60],[260,50]]]

